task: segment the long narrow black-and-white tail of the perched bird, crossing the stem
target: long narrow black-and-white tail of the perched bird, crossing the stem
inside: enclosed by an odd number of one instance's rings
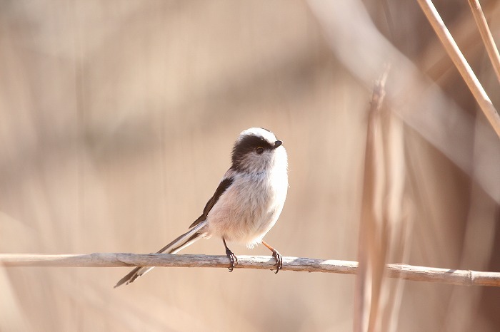
[[[189,229],[188,232],[182,234],[180,237],[174,239],[174,241],[161,248],[158,252],[156,252],[156,254],[161,254],[162,252],[166,252],[167,254],[175,254],[176,252],[179,252],[182,249],[188,247],[189,244],[192,244],[200,239],[202,233],[199,231],[205,226],[205,224],[205,221],[200,222],[195,227]],[[131,284],[135,279],[151,271],[151,269],[154,269],[154,266],[137,266],[135,269],[130,271],[129,274],[121,278],[120,281],[116,283],[114,288],[123,284]]]

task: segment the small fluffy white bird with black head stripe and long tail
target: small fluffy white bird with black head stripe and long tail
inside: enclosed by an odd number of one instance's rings
[[[231,262],[231,272],[238,258],[226,241],[246,244],[249,248],[261,243],[272,251],[278,273],[283,267],[281,254],[262,238],[276,224],[283,209],[288,191],[287,172],[286,150],[281,140],[264,128],[244,130],[234,142],[231,167],[201,216],[191,224],[188,232],[161,248],[158,254],[176,254],[201,237],[219,237]],[[114,287],[128,285],[153,268],[137,266]]]

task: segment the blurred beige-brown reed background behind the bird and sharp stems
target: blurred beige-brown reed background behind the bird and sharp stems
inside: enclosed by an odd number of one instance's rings
[[[469,5],[434,2],[498,107]],[[500,3],[481,4],[498,44]],[[500,140],[416,1],[397,0],[1,0],[0,251],[156,251],[259,126],[289,152],[266,242],[356,260],[369,100],[387,64],[411,206],[403,262],[500,271]],[[159,268],[113,289],[128,271],[0,267],[0,331],[353,329],[354,276]],[[500,329],[495,288],[404,281],[395,305],[396,331]]]

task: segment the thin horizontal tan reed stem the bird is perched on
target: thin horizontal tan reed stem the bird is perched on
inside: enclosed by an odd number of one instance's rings
[[[274,270],[276,260],[271,256],[238,256],[237,269]],[[59,267],[222,267],[227,268],[227,256],[171,254],[0,254],[0,266],[59,266]],[[283,257],[282,271],[356,274],[357,261]],[[500,286],[500,272],[438,269],[406,264],[386,264],[386,276],[412,281],[439,282],[464,286]]]

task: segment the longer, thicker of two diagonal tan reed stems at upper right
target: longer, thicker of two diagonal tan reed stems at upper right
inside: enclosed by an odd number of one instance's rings
[[[441,19],[441,16],[439,16],[438,11],[436,11],[434,4],[432,4],[431,0],[417,1],[419,1],[422,11],[424,11],[429,23],[432,28],[434,28],[434,31],[436,31],[439,40],[443,44],[451,60],[454,62],[456,68],[459,70],[460,75],[464,78],[464,81],[469,87],[469,90],[471,90],[472,95],[476,98],[479,107],[483,111],[484,115],[486,115],[486,118],[495,130],[496,135],[500,138],[500,115],[496,112],[494,105],[491,103],[488,95],[486,95],[486,92],[476,78],[474,71],[472,71],[471,66],[467,63],[464,55],[459,49],[459,46],[456,45],[451,33],[448,31],[448,28],[444,25],[444,22]]]

